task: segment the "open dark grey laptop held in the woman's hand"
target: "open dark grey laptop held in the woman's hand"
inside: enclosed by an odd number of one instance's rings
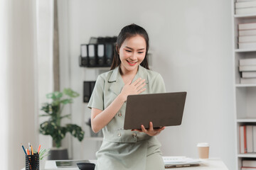
[[[124,130],[181,125],[186,92],[127,96]]]

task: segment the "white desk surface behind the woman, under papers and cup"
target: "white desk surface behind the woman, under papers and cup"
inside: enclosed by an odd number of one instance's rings
[[[92,163],[96,163],[95,160],[90,160]],[[228,170],[227,166],[220,159],[201,159],[200,166],[172,168],[169,170]],[[55,161],[46,161],[46,169],[41,170],[56,170]],[[24,169],[22,169],[24,170]],[[79,170],[78,168],[70,169],[58,169],[58,170]]]

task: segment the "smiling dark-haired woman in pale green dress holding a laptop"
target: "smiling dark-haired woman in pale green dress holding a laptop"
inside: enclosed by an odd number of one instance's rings
[[[163,128],[123,130],[128,95],[164,93],[161,75],[149,70],[146,55],[149,37],[144,28],[125,26],[117,37],[110,72],[97,77],[88,103],[92,109],[94,132],[103,131],[104,139],[97,152],[97,170],[164,169],[160,143],[156,140]]]

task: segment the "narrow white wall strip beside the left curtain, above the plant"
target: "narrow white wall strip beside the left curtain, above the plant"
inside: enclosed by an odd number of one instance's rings
[[[46,94],[53,91],[53,1],[37,0],[37,70],[38,70],[38,110],[43,114],[41,107],[48,102]],[[39,118],[39,124],[48,120]],[[49,135],[39,135],[42,148],[52,147],[52,138]]]

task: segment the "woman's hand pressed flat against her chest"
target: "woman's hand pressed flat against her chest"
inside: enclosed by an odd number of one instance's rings
[[[146,90],[144,86],[146,85],[144,83],[145,79],[139,78],[135,80],[133,83],[125,84],[122,91],[121,95],[124,97],[124,100],[127,101],[127,96],[129,95],[134,95],[134,94],[141,94],[143,91]]]

